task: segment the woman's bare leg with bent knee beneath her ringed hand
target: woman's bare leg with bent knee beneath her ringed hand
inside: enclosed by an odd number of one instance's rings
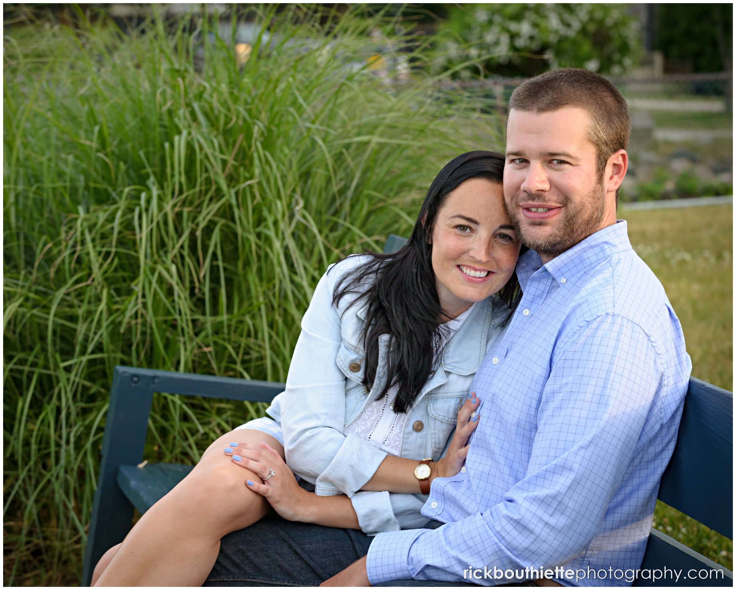
[[[261,441],[283,457],[283,446],[260,430],[233,430],[214,441],[191,473],[141,516],[118,550],[105,553],[93,586],[202,586],[220,539],[269,511],[268,502],[245,485],[258,476],[223,452],[231,442]]]

